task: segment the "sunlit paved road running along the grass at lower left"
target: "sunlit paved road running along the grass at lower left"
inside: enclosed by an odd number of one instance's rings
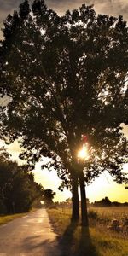
[[[0,256],[60,256],[45,209],[0,226]]]

